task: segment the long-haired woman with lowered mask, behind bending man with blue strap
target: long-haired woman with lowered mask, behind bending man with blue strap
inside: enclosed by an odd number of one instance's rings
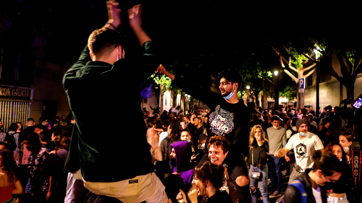
[[[346,153],[340,142],[333,141],[329,143],[325,147],[324,152],[332,152],[342,163],[341,178],[336,182],[325,183],[324,187],[327,190],[328,202],[356,202],[357,198],[355,196],[356,191],[354,187],[352,165],[346,163]]]

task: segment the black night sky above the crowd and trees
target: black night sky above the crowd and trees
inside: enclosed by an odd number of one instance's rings
[[[339,26],[340,20],[348,17],[344,23],[350,22],[345,25],[350,27],[354,19],[352,12],[347,16],[343,9],[319,12],[292,5],[231,0],[169,1],[168,4],[120,1],[123,14],[138,3],[143,4],[144,29],[160,45],[167,61],[197,60],[201,55],[225,57],[228,51],[247,49],[264,38],[298,38],[308,32],[333,35],[336,32],[331,32],[331,27]],[[47,56],[59,63],[76,60],[90,32],[102,27],[108,19],[104,0],[16,0],[1,4],[4,4],[0,5],[2,26],[11,26],[22,38],[47,31]],[[130,30],[125,33],[132,39]]]

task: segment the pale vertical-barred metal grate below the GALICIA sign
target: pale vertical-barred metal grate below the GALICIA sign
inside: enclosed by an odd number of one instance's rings
[[[26,127],[30,117],[30,102],[0,101],[0,119],[3,121],[3,131],[7,132],[10,124],[21,122]]]

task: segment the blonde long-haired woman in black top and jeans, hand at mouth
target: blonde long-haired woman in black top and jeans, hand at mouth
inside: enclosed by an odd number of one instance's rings
[[[268,165],[266,159],[269,153],[268,140],[264,138],[264,133],[260,125],[254,125],[249,138],[249,176],[252,171],[261,172],[260,179],[250,179],[250,188],[253,193],[253,202],[257,203],[256,191],[259,189],[263,197],[263,203],[270,203],[268,195]],[[258,188],[259,183],[259,188]]]

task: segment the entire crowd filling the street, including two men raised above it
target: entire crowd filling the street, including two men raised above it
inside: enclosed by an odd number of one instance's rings
[[[0,134],[0,202],[300,203],[304,193],[308,203],[360,201],[351,169],[360,119],[332,106],[317,113],[312,106],[261,109],[257,95],[245,104],[237,94],[243,78],[232,68],[218,74],[220,93],[189,83],[162,64],[142,29],[140,4],[127,10],[126,25],[143,51],[131,62],[118,3],[108,1],[107,9],[108,22],[90,34],[63,77],[71,119],[42,117],[34,125],[29,118],[25,129],[14,123]],[[124,77],[123,69],[139,70],[138,77]],[[139,104],[120,107],[114,88],[141,86],[155,72],[209,109],[173,106],[160,114],[156,107],[151,115],[143,108],[127,134],[99,131],[90,109],[123,123],[121,115],[134,115]],[[96,88],[102,91],[94,97]],[[282,195],[284,169],[290,184]]]

